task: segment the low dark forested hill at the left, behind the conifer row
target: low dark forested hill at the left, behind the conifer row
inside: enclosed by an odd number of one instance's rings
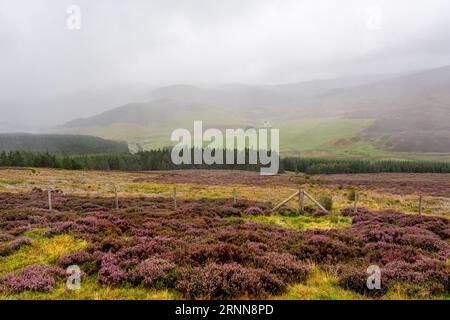
[[[0,151],[48,151],[64,154],[94,154],[128,152],[124,142],[98,137],[62,134],[0,134]]]

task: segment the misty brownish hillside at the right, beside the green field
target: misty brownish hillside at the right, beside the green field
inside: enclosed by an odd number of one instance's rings
[[[323,115],[374,118],[363,139],[402,152],[450,152],[450,67],[339,90],[318,98]]]

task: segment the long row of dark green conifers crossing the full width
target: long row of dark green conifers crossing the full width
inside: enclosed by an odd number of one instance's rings
[[[223,151],[225,152],[225,151]],[[235,158],[237,153],[235,152]],[[245,153],[248,159],[249,150]],[[192,152],[193,154],[194,152]],[[258,157],[259,159],[259,157]],[[136,154],[103,153],[89,155],[64,155],[49,152],[3,151],[0,152],[1,167],[40,167],[70,170],[122,170],[151,171],[177,169],[234,169],[258,171],[262,164],[182,164],[175,165],[171,160],[170,149],[142,151]],[[280,159],[280,173],[284,171],[306,174],[330,173],[450,173],[450,162],[443,161],[399,161],[399,160],[357,160],[357,159],[318,159],[288,157]]]

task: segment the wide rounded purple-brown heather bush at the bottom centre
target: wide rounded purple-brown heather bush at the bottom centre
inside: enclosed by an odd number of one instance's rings
[[[190,298],[261,298],[279,294],[285,284],[265,270],[245,268],[238,263],[211,263],[204,268],[184,270],[176,288]]]

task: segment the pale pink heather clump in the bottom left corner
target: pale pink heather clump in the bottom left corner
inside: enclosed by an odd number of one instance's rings
[[[0,278],[0,287],[15,293],[25,290],[49,292],[53,290],[56,279],[64,275],[64,270],[53,266],[31,266]]]

